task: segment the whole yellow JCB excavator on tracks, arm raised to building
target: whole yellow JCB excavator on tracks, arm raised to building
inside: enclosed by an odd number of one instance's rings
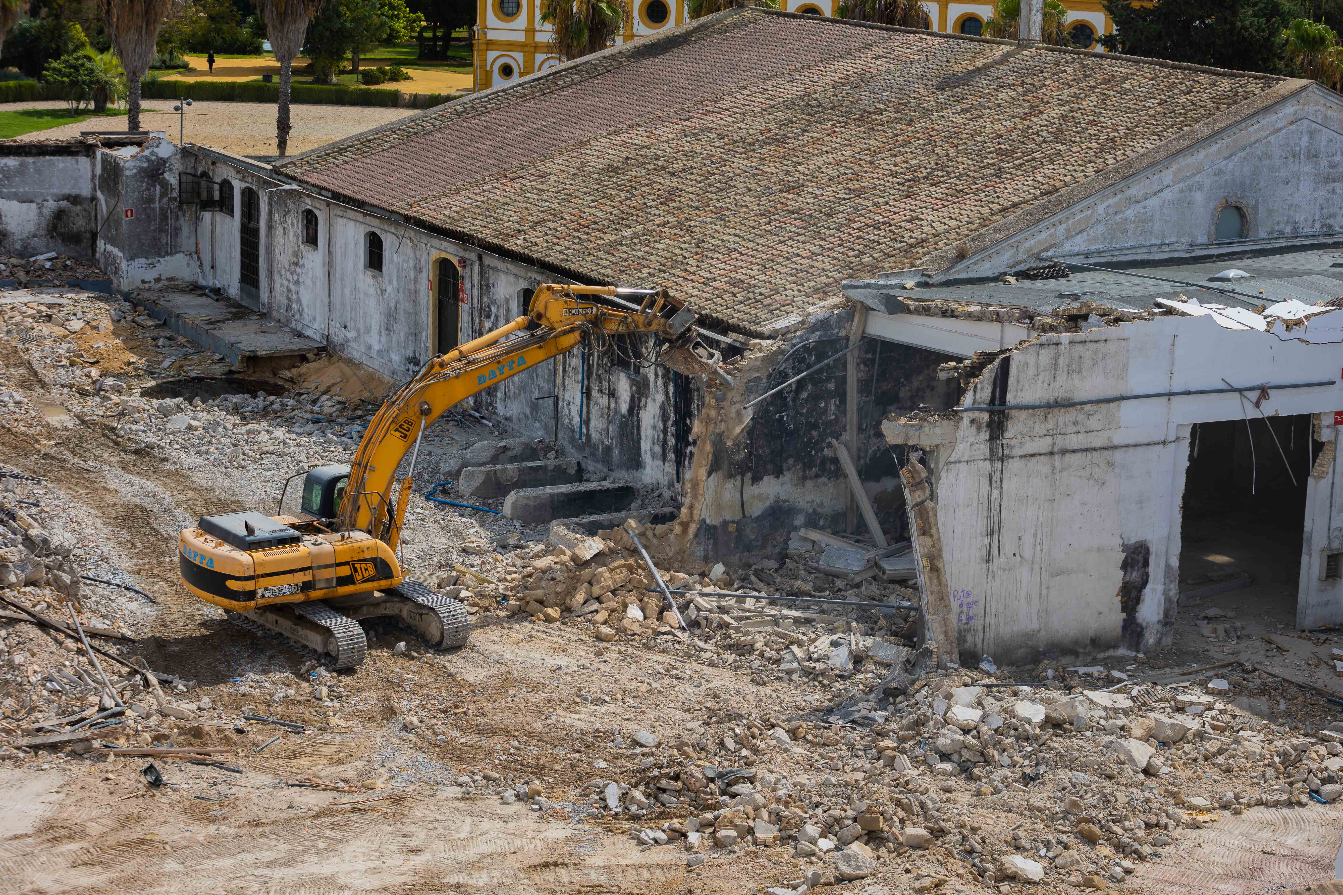
[[[396,557],[426,427],[541,361],[577,346],[612,350],[631,335],[654,337],[658,360],[682,373],[713,374],[721,360],[698,341],[690,309],[665,288],[540,286],[526,317],[434,357],[393,392],[351,466],[309,470],[297,517],[228,513],[183,529],[183,582],[243,627],[330,655],[337,670],[364,660],[360,619],[399,619],[436,648],[465,644],[466,608],[407,578]]]

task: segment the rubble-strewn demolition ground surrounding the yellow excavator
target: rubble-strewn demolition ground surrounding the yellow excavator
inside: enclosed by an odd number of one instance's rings
[[[1334,876],[1343,723],[1322,695],[1202,652],[931,670],[912,612],[876,612],[913,590],[817,572],[800,535],[771,562],[692,562],[674,525],[525,530],[418,501],[406,565],[466,602],[470,643],[436,653],[369,624],[364,664],[329,672],[187,593],[176,537],[273,511],[287,476],[348,462],[372,408],[310,390],[302,368],[246,394],[169,394],[160,380],[227,370],[130,302],[0,299],[0,890],[1249,892]],[[420,480],[493,458],[494,425],[435,427]],[[635,537],[694,592],[688,628]]]

